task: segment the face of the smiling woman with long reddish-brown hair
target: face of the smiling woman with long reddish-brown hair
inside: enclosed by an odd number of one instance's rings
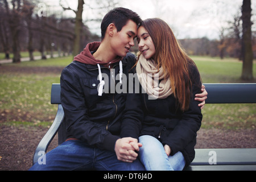
[[[146,59],[150,59],[155,55],[155,45],[144,27],[138,29],[138,46],[139,51],[144,55]]]

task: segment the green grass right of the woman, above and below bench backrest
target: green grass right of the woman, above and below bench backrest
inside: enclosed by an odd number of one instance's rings
[[[204,83],[243,82],[240,79],[242,62],[237,59],[221,60],[219,57],[207,56],[191,56],[191,58],[195,61]],[[253,73],[255,77],[255,61]],[[203,128],[255,129],[256,127],[256,104],[207,104],[202,113]]]

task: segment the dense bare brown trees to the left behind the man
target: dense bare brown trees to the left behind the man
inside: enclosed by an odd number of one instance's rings
[[[69,55],[73,52],[75,39],[79,39],[79,51],[88,42],[99,41],[97,35],[80,20],[79,36],[75,31],[77,19],[63,16],[62,11],[50,11],[45,3],[36,0],[3,0],[0,2],[0,52],[6,58],[13,53],[13,62],[20,62],[20,51],[40,51],[42,59],[46,52]]]

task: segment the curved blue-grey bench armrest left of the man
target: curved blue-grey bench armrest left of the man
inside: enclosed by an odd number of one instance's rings
[[[36,147],[34,158],[33,158],[33,165],[38,162],[40,156],[42,156],[41,152],[44,151],[46,153],[49,144],[51,143],[52,139],[55,137],[57,131],[60,128],[60,124],[64,119],[64,110],[63,107],[59,104],[56,117],[47,131],[46,135],[42,138],[39,142],[38,147]]]

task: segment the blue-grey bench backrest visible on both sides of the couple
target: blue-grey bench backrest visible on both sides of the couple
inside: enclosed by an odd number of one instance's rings
[[[256,103],[256,84],[204,84],[207,104]],[[60,104],[60,84],[52,84],[51,104]]]

